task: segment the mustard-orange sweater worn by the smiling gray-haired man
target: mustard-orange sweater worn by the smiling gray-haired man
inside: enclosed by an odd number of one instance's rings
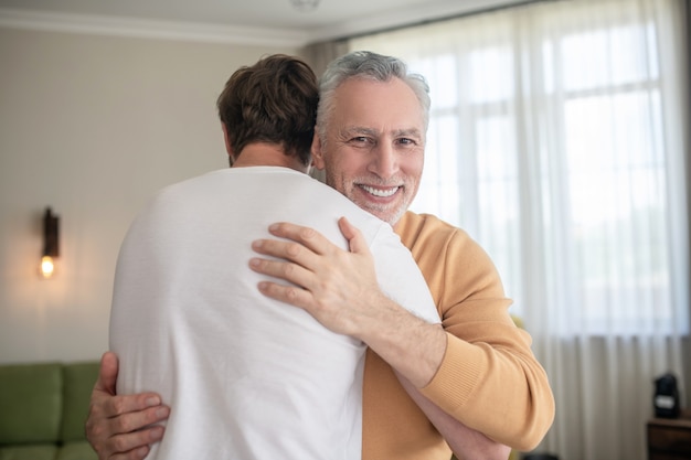
[[[489,256],[467,233],[430,215],[407,212],[395,229],[447,332],[442,365],[422,393],[466,426],[514,449],[533,449],[552,425],[554,399],[530,335],[509,315],[511,301]],[[363,460],[450,458],[391,366],[371,351],[363,393]]]

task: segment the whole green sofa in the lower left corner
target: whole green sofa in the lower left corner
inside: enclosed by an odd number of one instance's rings
[[[0,365],[0,460],[97,460],[84,435],[98,362]]]

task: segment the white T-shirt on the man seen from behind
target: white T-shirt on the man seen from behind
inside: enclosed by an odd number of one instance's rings
[[[410,252],[389,224],[287,168],[214,171],[161,191],[118,258],[110,349],[118,394],[171,406],[149,459],[353,460],[362,449],[365,345],[259,293],[254,239],[285,221],[347,249],[337,221],[365,236],[393,300],[439,322]]]

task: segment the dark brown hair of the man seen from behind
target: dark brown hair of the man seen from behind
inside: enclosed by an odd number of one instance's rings
[[[318,103],[312,69],[297,57],[274,54],[238,68],[216,106],[235,157],[251,142],[269,142],[307,165]]]

